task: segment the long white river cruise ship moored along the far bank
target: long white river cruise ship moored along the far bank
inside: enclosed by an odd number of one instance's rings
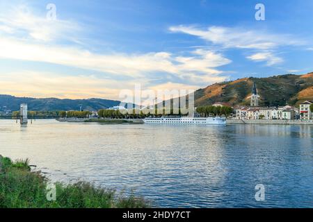
[[[163,124],[196,124],[196,125],[226,125],[226,119],[222,117],[148,117],[144,123]]]

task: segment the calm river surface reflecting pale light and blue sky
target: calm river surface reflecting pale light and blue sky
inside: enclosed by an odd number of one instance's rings
[[[0,120],[0,154],[29,157],[52,180],[134,190],[157,207],[313,207],[313,126]]]

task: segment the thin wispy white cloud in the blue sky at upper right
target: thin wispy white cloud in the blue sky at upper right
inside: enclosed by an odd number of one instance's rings
[[[243,28],[228,28],[222,26],[210,26],[207,29],[196,26],[171,26],[174,33],[186,33],[200,37],[211,44],[221,46],[223,49],[246,49],[256,51],[249,60],[266,62],[267,66],[284,62],[275,56],[275,50],[280,46],[299,46],[304,44],[301,40],[295,40],[290,35],[267,33]],[[270,52],[268,52],[270,51]]]

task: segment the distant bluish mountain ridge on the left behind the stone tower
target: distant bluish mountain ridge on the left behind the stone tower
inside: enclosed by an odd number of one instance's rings
[[[6,107],[6,110],[19,110],[21,103],[27,103],[29,110],[33,111],[79,110],[79,105],[83,110],[93,111],[120,105],[120,101],[109,99],[35,99],[0,95],[0,110],[3,110],[3,107]]]

